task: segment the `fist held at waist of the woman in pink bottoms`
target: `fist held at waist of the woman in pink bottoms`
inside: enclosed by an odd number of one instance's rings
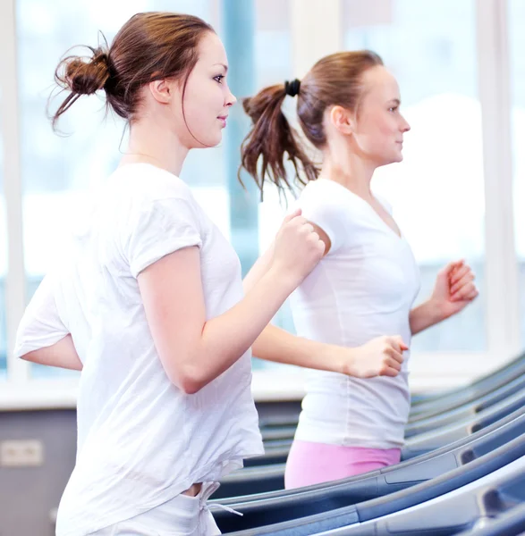
[[[409,348],[399,335],[377,337],[359,348],[345,348],[351,357],[343,363],[343,373],[354,378],[397,376],[403,362],[402,352]]]

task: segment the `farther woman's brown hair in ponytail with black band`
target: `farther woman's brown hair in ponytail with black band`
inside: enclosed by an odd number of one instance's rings
[[[244,110],[250,115],[253,127],[241,147],[241,169],[257,182],[261,197],[265,180],[273,182],[281,191],[292,189],[284,166],[285,157],[292,162],[301,184],[318,178],[318,166],[311,162],[306,148],[281,111],[284,97],[298,96],[297,116],[301,130],[313,147],[323,149],[326,147],[323,124],[326,109],[339,105],[357,110],[365,90],[362,75],[378,65],[383,65],[383,61],[369,50],[330,54],[319,60],[301,82],[293,80],[272,86],[244,99]]]

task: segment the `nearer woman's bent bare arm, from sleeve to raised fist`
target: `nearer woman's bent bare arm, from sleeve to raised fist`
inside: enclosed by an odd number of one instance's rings
[[[318,235],[305,223],[289,220],[267,272],[236,306],[208,321],[197,247],[166,255],[140,272],[149,328],[175,385],[195,393],[251,347],[322,255]]]

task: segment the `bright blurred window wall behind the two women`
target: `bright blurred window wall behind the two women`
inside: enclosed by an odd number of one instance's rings
[[[74,408],[76,374],[15,361],[11,350],[24,307],[81,217],[86,192],[114,170],[125,147],[123,122],[105,119],[97,97],[64,115],[66,136],[53,133],[46,106],[55,66],[70,47],[95,46],[99,30],[111,41],[133,13],[157,10],[192,13],[215,27],[238,97],[301,78],[338,50],[380,54],[399,81],[411,132],[404,161],[377,172],[375,187],[394,205],[418,259],[419,299],[436,272],[460,258],[480,290],[473,306],[413,339],[412,388],[458,386],[517,354],[525,341],[524,0],[1,0],[2,408]],[[244,272],[286,210],[275,191],[259,203],[250,180],[246,190],[237,181],[248,127],[236,106],[221,146],[193,151],[182,172]],[[293,331],[286,306],[274,322]],[[301,399],[301,371],[258,360],[254,369],[259,403]]]

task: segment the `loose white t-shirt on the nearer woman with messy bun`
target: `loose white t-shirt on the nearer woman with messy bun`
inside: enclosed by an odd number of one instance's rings
[[[83,362],[77,462],[58,536],[139,515],[263,453],[250,351],[193,395],[169,381],[157,355],[137,276],[191,246],[200,250],[208,320],[241,300],[238,256],[182,180],[146,163],[125,165],[101,188],[90,224],[21,322],[18,356],[71,331]]]

